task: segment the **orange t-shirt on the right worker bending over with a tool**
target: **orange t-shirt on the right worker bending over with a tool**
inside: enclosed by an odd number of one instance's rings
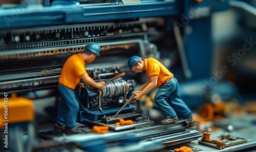
[[[145,71],[147,78],[158,75],[157,87],[161,87],[168,80],[174,78],[174,74],[171,73],[161,62],[154,58],[144,59]]]

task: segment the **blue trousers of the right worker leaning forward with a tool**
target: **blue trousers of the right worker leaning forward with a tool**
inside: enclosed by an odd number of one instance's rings
[[[180,97],[178,86],[177,79],[173,78],[165,83],[155,96],[155,103],[164,113],[164,118],[174,118],[177,113],[183,118],[192,118],[190,109]]]

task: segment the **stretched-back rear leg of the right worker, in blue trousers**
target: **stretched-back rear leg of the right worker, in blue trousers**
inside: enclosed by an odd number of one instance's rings
[[[179,94],[179,84],[176,78],[173,78],[173,83],[176,84],[176,89],[173,91],[172,94],[167,99],[168,104],[173,107],[173,109],[181,115],[183,118],[192,118],[192,114],[190,109],[187,107],[187,105],[184,103],[184,101],[181,99]]]

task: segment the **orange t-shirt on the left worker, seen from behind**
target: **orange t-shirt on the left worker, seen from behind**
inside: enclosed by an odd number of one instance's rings
[[[82,74],[86,72],[86,63],[81,53],[72,55],[67,59],[60,73],[59,84],[75,90],[81,80]]]

